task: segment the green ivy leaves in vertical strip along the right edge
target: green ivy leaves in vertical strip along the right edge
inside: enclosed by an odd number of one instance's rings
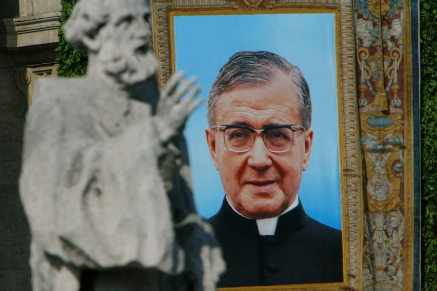
[[[437,1],[420,0],[422,283],[437,290]]]

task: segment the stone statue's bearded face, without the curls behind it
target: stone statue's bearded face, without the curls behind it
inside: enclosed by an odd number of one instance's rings
[[[100,29],[99,60],[107,73],[125,85],[135,85],[153,75],[158,64],[148,43],[150,9],[142,0],[127,0],[114,7],[111,20]]]

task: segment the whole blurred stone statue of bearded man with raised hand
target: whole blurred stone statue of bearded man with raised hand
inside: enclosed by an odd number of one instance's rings
[[[79,1],[64,32],[86,76],[37,82],[20,177],[34,291],[214,290],[224,270],[181,135],[199,90],[184,73],[144,90],[149,16],[142,0]]]

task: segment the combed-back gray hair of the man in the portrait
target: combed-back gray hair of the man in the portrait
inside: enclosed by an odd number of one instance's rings
[[[283,57],[266,51],[234,54],[220,69],[208,96],[208,123],[215,124],[215,105],[222,93],[237,87],[253,87],[272,82],[278,73],[290,77],[300,97],[299,114],[304,128],[311,127],[311,97],[300,69]]]

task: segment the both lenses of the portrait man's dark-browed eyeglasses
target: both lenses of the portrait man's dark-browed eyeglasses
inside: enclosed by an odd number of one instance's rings
[[[225,130],[225,145],[235,152],[245,152],[253,144],[254,135],[248,129],[228,128]],[[290,128],[273,128],[264,132],[264,143],[272,152],[285,152],[292,147],[293,131]]]

